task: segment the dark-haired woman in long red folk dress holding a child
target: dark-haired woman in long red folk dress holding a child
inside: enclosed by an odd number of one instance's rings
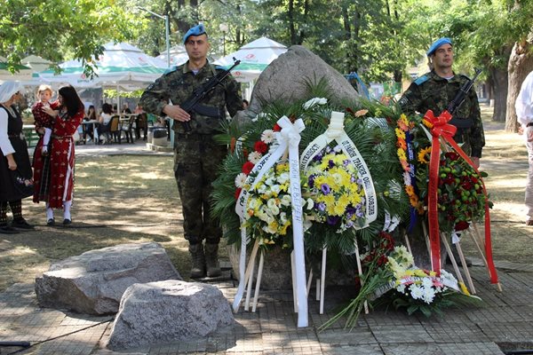
[[[46,201],[47,225],[54,225],[53,209],[63,209],[63,225],[70,225],[70,206],[74,190],[74,138],[84,119],[84,103],[72,86],[63,86],[58,100],[42,108],[54,118],[48,164],[45,157],[34,161],[36,195],[34,201]],[[48,166],[47,166],[48,165]],[[36,180],[38,178],[38,180]]]

